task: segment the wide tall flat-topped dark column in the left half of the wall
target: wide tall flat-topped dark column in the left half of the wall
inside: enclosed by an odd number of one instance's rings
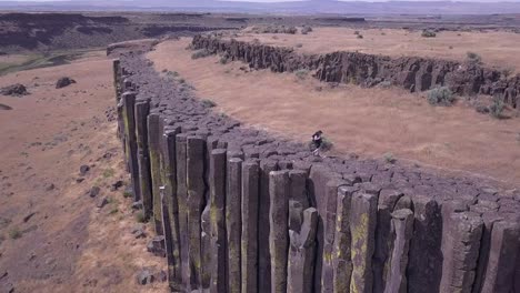
[[[187,188],[188,188],[188,233],[189,267],[191,289],[201,289],[201,215],[204,206],[204,152],[206,141],[199,137],[189,137],[187,144]],[[204,264],[206,265],[206,264]]]

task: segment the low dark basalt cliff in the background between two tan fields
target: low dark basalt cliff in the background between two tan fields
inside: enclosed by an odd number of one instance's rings
[[[309,69],[327,82],[373,87],[383,81],[412,92],[446,85],[461,95],[489,94],[512,108],[520,108],[520,75],[504,77],[501,71],[476,63],[461,63],[420,57],[391,58],[359,52],[300,54],[289,48],[271,47],[237,40],[196,36],[193,49],[227,54],[231,60],[249,63],[254,69],[274,72]]]

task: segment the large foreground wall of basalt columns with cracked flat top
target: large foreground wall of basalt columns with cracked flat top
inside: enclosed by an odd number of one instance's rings
[[[282,49],[231,48],[294,69]],[[212,113],[142,55],[122,53],[114,83],[134,200],[164,235],[172,291],[520,292],[519,191],[313,156]]]

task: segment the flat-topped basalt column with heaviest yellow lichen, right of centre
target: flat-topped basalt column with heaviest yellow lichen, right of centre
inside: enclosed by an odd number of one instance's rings
[[[352,234],[352,276],[350,292],[372,292],[372,255],[377,223],[378,198],[372,194],[356,193],[352,196],[350,232]]]

